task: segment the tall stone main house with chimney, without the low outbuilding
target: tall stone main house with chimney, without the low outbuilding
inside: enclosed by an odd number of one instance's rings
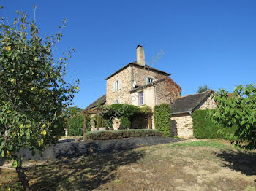
[[[85,113],[96,114],[98,102],[102,105],[150,106],[153,111],[155,105],[170,104],[170,100],[174,101],[180,96],[181,87],[169,77],[169,73],[145,64],[145,52],[142,46],[138,45],[136,54],[137,61],[128,63],[105,79],[106,95],[102,95],[87,106]],[[164,52],[161,56],[163,54]],[[132,128],[136,128],[138,124],[135,121],[132,122]],[[120,124],[118,119],[115,124]],[[154,128],[154,117],[149,118],[147,128]],[[115,129],[118,129],[118,125]]]

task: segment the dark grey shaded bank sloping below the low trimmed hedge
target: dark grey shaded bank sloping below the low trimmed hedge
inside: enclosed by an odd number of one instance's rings
[[[39,152],[32,156],[29,149],[20,150],[20,155],[23,155],[24,160],[47,160],[61,159],[62,157],[78,157],[81,155],[90,155],[94,152],[115,152],[127,149],[135,149],[143,146],[151,146],[156,144],[166,144],[181,141],[181,139],[173,139],[170,137],[133,137],[128,139],[113,139],[106,141],[79,141],[75,139],[61,140],[58,144],[51,147],[46,147],[43,155]],[[0,158],[1,159],[1,158]],[[0,160],[0,166],[1,166]]]

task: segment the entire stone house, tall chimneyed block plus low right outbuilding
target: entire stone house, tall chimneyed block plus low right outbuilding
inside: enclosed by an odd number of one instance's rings
[[[106,94],[84,109],[84,113],[97,114],[97,106],[110,104],[132,104],[135,106],[150,106],[152,112],[154,106],[159,104],[170,104],[172,114],[173,136],[193,136],[192,112],[197,109],[213,109],[216,104],[211,95],[212,90],[204,93],[196,93],[180,97],[181,87],[173,81],[170,74],[160,71],[145,64],[144,48],[138,45],[137,61],[128,63],[118,69],[106,80]],[[162,52],[162,54],[164,54]],[[154,113],[153,113],[154,115]],[[146,120],[146,127],[142,127],[142,121]],[[135,116],[131,128],[153,128],[154,117],[148,115],[147,119]],[[118,118],[113,120],[114,130],[120,128]]]

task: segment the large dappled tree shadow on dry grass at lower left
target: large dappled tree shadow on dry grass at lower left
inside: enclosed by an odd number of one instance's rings
[[[145,155],[141,151],[93,153],[28,168],[32,190],[93,190],[115,178],[121,165],[136,163]]]

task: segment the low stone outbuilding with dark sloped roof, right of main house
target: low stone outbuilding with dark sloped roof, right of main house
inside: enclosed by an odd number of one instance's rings
[[[171,134],[178,137],[193,136],[193,112],[197,109],[217,107],[211,95],[213,90],[177,98],[170,104],[172,116]]]

